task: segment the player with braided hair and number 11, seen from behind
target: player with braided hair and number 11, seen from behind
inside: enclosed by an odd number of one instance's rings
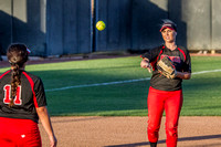
[[[55,147],[43,83],[24,71],[28,54],[24,44],[12,44],[7,52],[11,70],[0,75],[0,146],[41,147],[40,118],[51,147]]]

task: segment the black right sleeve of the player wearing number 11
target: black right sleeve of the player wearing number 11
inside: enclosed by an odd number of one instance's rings
[[[44,92],[44,85],[41,78],[38,78],[34,83],[34,92],[36,97],[38,106],[46,106],[46,96]]]

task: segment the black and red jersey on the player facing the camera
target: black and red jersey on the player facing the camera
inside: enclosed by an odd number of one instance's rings
[[[157,71],[156,63],[164,56],[168,56],[173,62],[178,72],[191,73],[191,59],[187,49],[178,46],[176,50],[171,51],[167,46],[160,45],[141,55],[141,57],[147,57],[152,65],[150,86],[161,91],[181,90],[181,78],[176,77],[175,80],[170,80]]]

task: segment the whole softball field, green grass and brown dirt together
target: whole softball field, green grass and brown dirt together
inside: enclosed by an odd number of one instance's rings
[[[220,57],[192,55],[192,78],[183,82],[178,147],[221,147]],[[45,85],[57,147],[149,146],[150,74],[139,63],[139,56],[29,62],[27,70]],[[0,62],[0,73],[8,66]],[[43,147],[50,147],[39,126]],[[166,147],[165,117],[159,134],[158,147]]]

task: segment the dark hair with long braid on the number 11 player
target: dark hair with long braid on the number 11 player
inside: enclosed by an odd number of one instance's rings
[[[10,107],[14,105],[13,101],[17,96],[17,87],[21,85],[21,67],[23,67],[24,63],[29,60],[29,52],[24,44],[17,43],[11,44],[8,48],[7,56],[9,63],[12,67],[11,73],[11,102],[9,104]]]

